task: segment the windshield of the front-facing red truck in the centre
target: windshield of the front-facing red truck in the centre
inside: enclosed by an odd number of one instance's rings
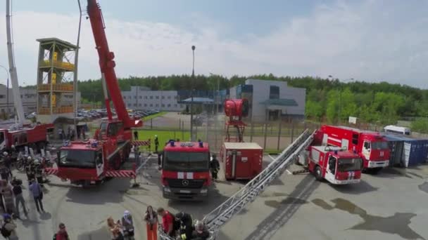
[[[208,152],[165,152],[163,169],[166,171],[208,171]]]

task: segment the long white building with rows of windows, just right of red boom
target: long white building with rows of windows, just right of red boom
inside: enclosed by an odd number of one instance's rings
[[[177,91],[151,91],[145,86],[131,86],[131,91],[122,91],[122,97],[129,109],[180,112],[186,107],[178,103]]]

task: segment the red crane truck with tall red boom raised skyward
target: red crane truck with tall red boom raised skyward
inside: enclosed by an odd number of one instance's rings
[[[133,170],[120,170],[130,157],[132,128],[141,127],[140,119],[131,119],[123,102],[115,74],[114,53],[108,49],[101,8],[96,0],[87,1],[87,13],[99,55],[99,67],[108,118],[101,121],[94,139],[86,142],[66,142],[58,151],[58,168],[46,168],[46,173],[70,180],[77,185],[94,185],[107,177],[134,178]],[[117,117],[113,119],[110,102]]]

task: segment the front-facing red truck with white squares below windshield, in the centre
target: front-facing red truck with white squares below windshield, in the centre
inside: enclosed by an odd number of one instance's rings
[[[170,141],[163,148],[163,197],[203,200],[208,197],[210,149],[206,142]]]

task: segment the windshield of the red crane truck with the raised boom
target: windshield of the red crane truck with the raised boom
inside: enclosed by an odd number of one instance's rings
[[[95,168],[95,151],[61,150],[58,165],[70,168]]]

